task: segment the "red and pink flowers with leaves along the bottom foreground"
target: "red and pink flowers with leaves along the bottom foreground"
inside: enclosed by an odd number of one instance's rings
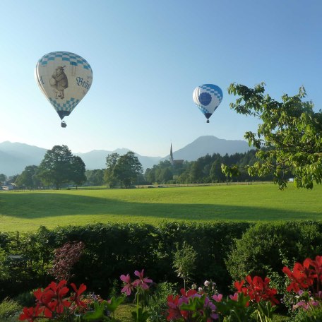
[[[322,256],[316,256],[314,260],[306,258],[303,263],[295,263],[292,270],[285,266],[282,271],[290,280],[285,292],[293,294],[296,300],[294,321],[321,321]],[[153,280],[144,276],[144,270],[136,270],[134,275],[136,280],[133,281],[129,274],[121,275],[124,283],[121,292],[127,297],[135,292],[133,321],[151,321],[149,306],[152,305]],[[163,321],[273,321],[273,312],[280,301],[277,290],[270,287],[269,278],[248,275],[245,280],[234,282],[235,292],[226,298],[210,285],[213,284],[205,281],[206,290],[201,287],[198,290],[181,289],[179,294],[169,294]],[[116,321],[114,313],[125,297],[112,297],[107,301],[92,296],[88,301],[83,295],[85,290],[84,284],[77,288],[73,283],[68,287],[66,280],[51,282],[44,290],[34,292],[36,305],[25,307],[19,320],[33,322],[46,317],[55,321]],[[162,317],[158,321],[162,321]]]

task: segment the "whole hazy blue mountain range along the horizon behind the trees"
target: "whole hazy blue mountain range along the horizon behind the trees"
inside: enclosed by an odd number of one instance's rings
[[[232,155],[234,153],[244,153],[251,150],[248,143],[242,140],[225,140],[216,138],[215,136],[200,136],[195,141],[189,143],[177,151],[174,151],[174,160],[194,161],[198,157],[203,157],[206,154],[213,155]],[[105,158],[111,153],[119,153],[124,155],[129,149],[121,148],[113,151],[108,150],[92,150],[88,153],[73,153],[82,158],[86,169],[104,169]],[[44,158],[47,149],[39,148],[34,145],[25,143],[12,143],[5,141],[0,143],[0,174],[6,174],[7,177],[20,174],[28,165],[40,165]],[[134,151],[133,151],[134,152]],[[157,165],[160,160],[169,160],[169,155],[165,157],[148,157],[138,155],[138,160],[141,162],[143,169]]]

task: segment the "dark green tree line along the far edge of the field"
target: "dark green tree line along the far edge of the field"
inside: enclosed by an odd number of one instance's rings
[[[206,184],[227,181],[272,180],[272,175],[251,177],[246,166],[257,161],[256,151],[235,153],[234,155],[205,155],[196,161],[185,161],[172,164],[169,160],[148,168],[143,167],[136,155],[129,151],[125,155],[112,153],[106,157],[105,169],[85,170],[81,157],[71,154],[66,145],[55,145],[48,150],[37,167],[30,165],[16,176],[15,184],[20,189],[54,188],[62,186],[103,186],[109,188],[131,188],[137,185],[152,184]],[[222,172],[222,164],[238,165],[241,172],[238,176],[227,177]]]

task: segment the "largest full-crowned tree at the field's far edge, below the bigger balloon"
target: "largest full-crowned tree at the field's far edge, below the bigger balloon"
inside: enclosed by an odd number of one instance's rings
[[[66,145],[55,145],[47,150],[37,170],[37,176],[46,185],[59,189],[62,184],[85,181],[85,165],[81,157],[72,155]]]

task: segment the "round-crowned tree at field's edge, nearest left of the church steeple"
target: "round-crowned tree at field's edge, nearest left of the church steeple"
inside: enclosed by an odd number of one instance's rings
[[[143,173],[143,167],[141,162],[138,160],[138,157],[132,152],[129,151],[125,155],[121,155],[117,164],[114,167],[114,178],[116,178],[121,185],[129,188],[138,180],[140,174]]]

